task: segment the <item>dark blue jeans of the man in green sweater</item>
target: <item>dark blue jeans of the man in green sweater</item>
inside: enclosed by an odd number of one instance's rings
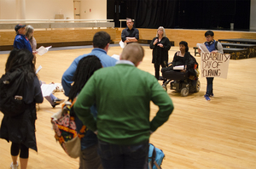
[[[98,154],[104,169],[144,169],[148,163],[148,141],[143,144],[117,145],[98,140]]]

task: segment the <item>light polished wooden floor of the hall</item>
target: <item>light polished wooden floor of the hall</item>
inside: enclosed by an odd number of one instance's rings
[[[154,74],[151,64],[152,51],[148,47],[139,69]],[[38,56],[37,65],[43,66],[39,72],[44,82],[61,82],[67,67],[80,54],[90,53],[91,48],[49,51]],[[172,47],[169,55],[178,50]],[[193,49],[189,48],[192,52]],[[108,54],[120,54],[121,48],[112,47]],[[194,53],[192,53],[194,55]],[[8,54],[0,55],[0,73]],[[200,57],[196,57],[200,64]],[[206,92],[206,79],[200,78],[201,90],[181,97],[168,89],[175,110],[162,127],[150,138],[150,143],[166,154],[163,169],[170,168],[256,168],[256,58],[230,60],[228,79],[215,78],[215,97],[208,102],[203,98]],[[55,93],[67,99],[63,93]],[[28,169],[70,169],[78,168],[79,160],[69,158],[61,146],[55,142],[54,132],[49,122],[50,116],[60,110],[44,100],[38,111],[37,142],[38,153],[30,150]],[[158,108],[151,104],[151,118]],[[0,120],[3,114],[0,113]],[[11,163],[10,144],[0,140],[0,168],[7,169]]]

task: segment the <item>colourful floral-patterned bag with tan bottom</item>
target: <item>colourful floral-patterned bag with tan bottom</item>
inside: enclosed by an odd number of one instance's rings
[[[72,158],[78,158],[81,153],[81,138],[87,131],[83,126],[79,132],[76,131],[74,115],[71,114],[73,103],[70,101],[62,104],[61,110],[51,116],[51,123],[55,131],[55,139],[61,144],[62,149]]]

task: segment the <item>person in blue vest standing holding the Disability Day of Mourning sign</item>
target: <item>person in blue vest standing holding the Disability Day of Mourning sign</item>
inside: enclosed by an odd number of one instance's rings
[[[205,33],[205,37],[207,39],[207,42],[204,42],[204,44],[206,45],[208,51],[211,53],[211,54],[217,54],[217,53],[220,53],[220,54],[223,54],[223,47],[221,45],[220,42],[217,42],[214,40],[214,33],[213,31],[207,31]],[[201,49],[198,48],[198,52],[199,54],[201,54]],[[207,101],[210,101],[210,97],[213,97],[213,79],[214,77],[207,77],[207,93],[204,95],[205,99]]]

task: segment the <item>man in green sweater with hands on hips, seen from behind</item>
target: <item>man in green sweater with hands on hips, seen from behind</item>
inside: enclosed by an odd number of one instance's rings
[[[85,126],[97,134],[103,168],[143,168],[148,139],[172,114],[172,99],[155,77],[137,69],[144,49],[127,45],[113,67],[96,70],[84,85],[74,111]],[[150,101],[159,106],[149,121]],[[97,117],[90,114],[96,104]]]

